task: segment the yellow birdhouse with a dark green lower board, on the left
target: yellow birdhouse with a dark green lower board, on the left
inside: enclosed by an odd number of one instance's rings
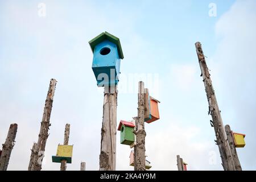
[[[72,162],[73,146],[59,144],[56,156],[52,156],[53,163],[61,163],[61,160],[67,160],[67,163]]]

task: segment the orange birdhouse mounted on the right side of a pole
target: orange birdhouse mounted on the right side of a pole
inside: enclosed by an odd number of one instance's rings
[[[147,104],[148,102],[148,104]],[[158,110],[158,103],[160,101],[156,100],[155,98],[149,96],[148,101],[145,102],[146,111],[144,116],[144,121],[147,123],[151,123],[153,121],[158,120],[159,117],[159,110]]]

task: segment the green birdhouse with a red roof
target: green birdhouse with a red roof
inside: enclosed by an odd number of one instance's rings
[[[131,145],[135,141],[135,134],[134,131],[134,123],[127,122],[127,121],[120,121],[118,126],[118,131],[120,131],[120,143]]]

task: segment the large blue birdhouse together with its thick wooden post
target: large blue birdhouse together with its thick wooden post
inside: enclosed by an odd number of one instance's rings
[[[123,52],[119,39],[108,32],[103,32],[90,40],[89,44],[93,51],[92,69],[97,80],[97,86],[104,87],[100,171],[114,171],[117,134],[117,84]]]

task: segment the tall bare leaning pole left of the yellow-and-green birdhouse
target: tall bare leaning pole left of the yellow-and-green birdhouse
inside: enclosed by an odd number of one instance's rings
[[[40,133],[38,135],[38,143],[36,144],[35,154],[34,156],[31,156],[32,160],[30,160],[30,164],[28,165],[31,166],[31,171],[40,171],[42,169],[44,151],[46,150],[46,141],[49,136],[48,130],[49,126],[51,126],[51,124],[49,123],[49,119],[51,117],[52,102],[55,93],[56,83],[57,81],[52,78],[49,84],[49,90],[47,93],[46,104],[44,106]]]

